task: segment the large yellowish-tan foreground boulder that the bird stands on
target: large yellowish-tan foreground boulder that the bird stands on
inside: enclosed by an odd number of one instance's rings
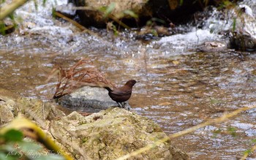
[[[75,159],[117,159],[167,136],[148,118],[118,107],[87,117],[73,112],[52,121],[50,132],[70,148]],[[188,156],[170,142],[164,142],[136,159],[188,159]]]

